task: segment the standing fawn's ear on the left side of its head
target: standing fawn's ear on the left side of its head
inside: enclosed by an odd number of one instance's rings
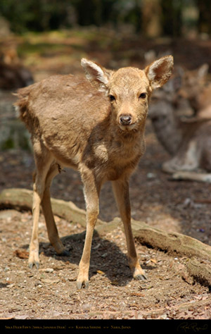
[[[86,58],[82,58],[81,64],[91,84],[99,91],[106,92],[108,90],[108,80],[113,71],[101,67],[94,61],[88,61]]]

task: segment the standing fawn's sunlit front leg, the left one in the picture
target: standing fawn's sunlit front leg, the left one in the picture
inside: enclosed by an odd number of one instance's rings
[[[77,288],[89,287],[89,263],[91,254],[91,242],[99,214],[99,192],[100,185],[96,185],[93,173],[87,170],[82,173],[84,183],[84,198],[87,206],[87,232],[84,242],[84,250],[79,262],[79,274],[77,277]]]

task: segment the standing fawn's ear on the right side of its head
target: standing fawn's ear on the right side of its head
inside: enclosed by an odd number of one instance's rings
[[[173,66],[174,58],[172,56],[164,56],[157,61],[153,61],[145,68],[144,71],[153,89],[161,87],[169,80]]]

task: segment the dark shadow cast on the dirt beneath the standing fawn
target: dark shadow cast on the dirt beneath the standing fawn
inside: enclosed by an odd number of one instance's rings
[[[69,256],[60,256],[56,254],[55,249],[53,249],[49,242],[39,243],[39,253],[42,252],[44,256],[53,257],[58,261],[69,261],[70,264],[79,266],[79,261],[84,248],[84,240],[85,231],[61,237],[65,249],[70,253]],[[29,245],[24,245],[22,247],[27,249]],[[147,271],[155,268],[147,265],[142,265],[141,267],[143,270]],[[89,279],[98,272],[106,275],[113,285],[121,287],[126,286],[133,280],[132,271],[128,265],[127,254],[124,254],[120,247],[117,247],[115,242],[110,242],[100,237],[95,230],[91,247]]]

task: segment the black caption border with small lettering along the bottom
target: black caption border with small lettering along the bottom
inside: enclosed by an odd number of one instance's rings
[[[1,333],[211,333],[210,320],[1,320]],[[147,330],[147,332],[146,332]]]

